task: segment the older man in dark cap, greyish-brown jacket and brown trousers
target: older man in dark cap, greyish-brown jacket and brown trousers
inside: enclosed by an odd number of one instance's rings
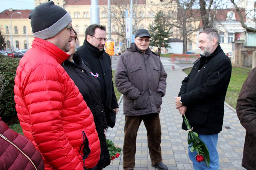
[[[124,94],[124,170],[134,169],[136,137],[142,120],[147,129],[151,166],[168,169],[162,162],[159,119],[167,74],[159,57],[148,47],[150,38],[148,30],[138,30],[135,44],[125,50],[116,66],[116,88]]]

